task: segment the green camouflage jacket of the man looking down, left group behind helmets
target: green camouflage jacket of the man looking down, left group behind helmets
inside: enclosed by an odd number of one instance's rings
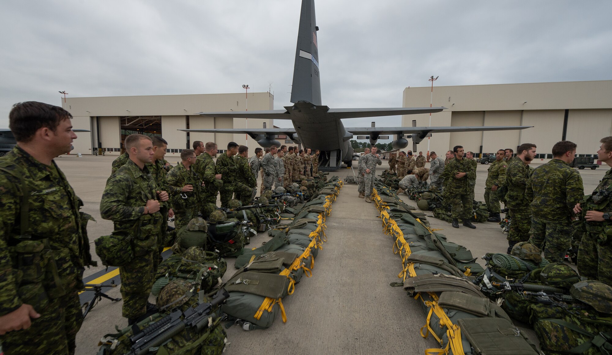
[[[193,169],[187,170],[185,165],[181,163],[170,170],[170,173],[166,176],[166,181],[168,181],[169,201],[174,212],[185,211],[185,209],[200,203],[202,178]],[[192,185],[193,191],[182,192],[185,185]]]

